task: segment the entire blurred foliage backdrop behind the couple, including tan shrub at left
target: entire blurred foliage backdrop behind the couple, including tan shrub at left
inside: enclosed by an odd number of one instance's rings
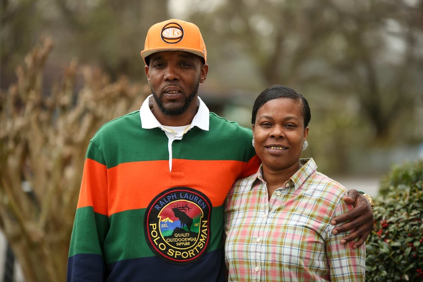
[[[88,141],[139,108],[145,36],[169,18],[200,27],[212,111],[250,128],[268,86],[308,99],[321,172],[423,158],[423,0],[1,0],[0,228],[27,281],[63,281]]]

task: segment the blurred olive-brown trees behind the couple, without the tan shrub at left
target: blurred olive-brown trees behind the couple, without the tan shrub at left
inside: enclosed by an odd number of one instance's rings
[[[1,89],[41,37],[54,49],[48,93],[73,59],[112,81],[145,82],[140,57],[152,24],[196,23],[210,71],[200,96],[250,127],[251,105],[272,84],[311,103],[305,156],[331,174],[380,174],[416,158],[423,141],[422,0],[2,0]],[[76,85],[81,87],[81,85]]]

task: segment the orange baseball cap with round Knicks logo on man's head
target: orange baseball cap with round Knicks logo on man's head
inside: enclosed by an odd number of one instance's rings
[[[141,56],[161,51],[185,51],[207,59],[206,45],[198,26],[181,20],[171,19],[150,27],[145,38]]]

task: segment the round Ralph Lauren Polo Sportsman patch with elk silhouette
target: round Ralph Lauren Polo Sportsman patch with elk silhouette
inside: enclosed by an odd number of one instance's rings
[[[166,261],[191,263],[204,255],[210,241],[212,203],[188,187],[165,190],[148,205],[145,237],[150,249]]]

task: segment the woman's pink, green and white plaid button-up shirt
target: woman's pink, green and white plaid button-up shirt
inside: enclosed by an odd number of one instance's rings
[[[344,186],[317,172],[312,158],[268,200],[262,168],[227,197],[229,281],[364,281],[366,248],[342,245],[330,221],[352,209]]]

